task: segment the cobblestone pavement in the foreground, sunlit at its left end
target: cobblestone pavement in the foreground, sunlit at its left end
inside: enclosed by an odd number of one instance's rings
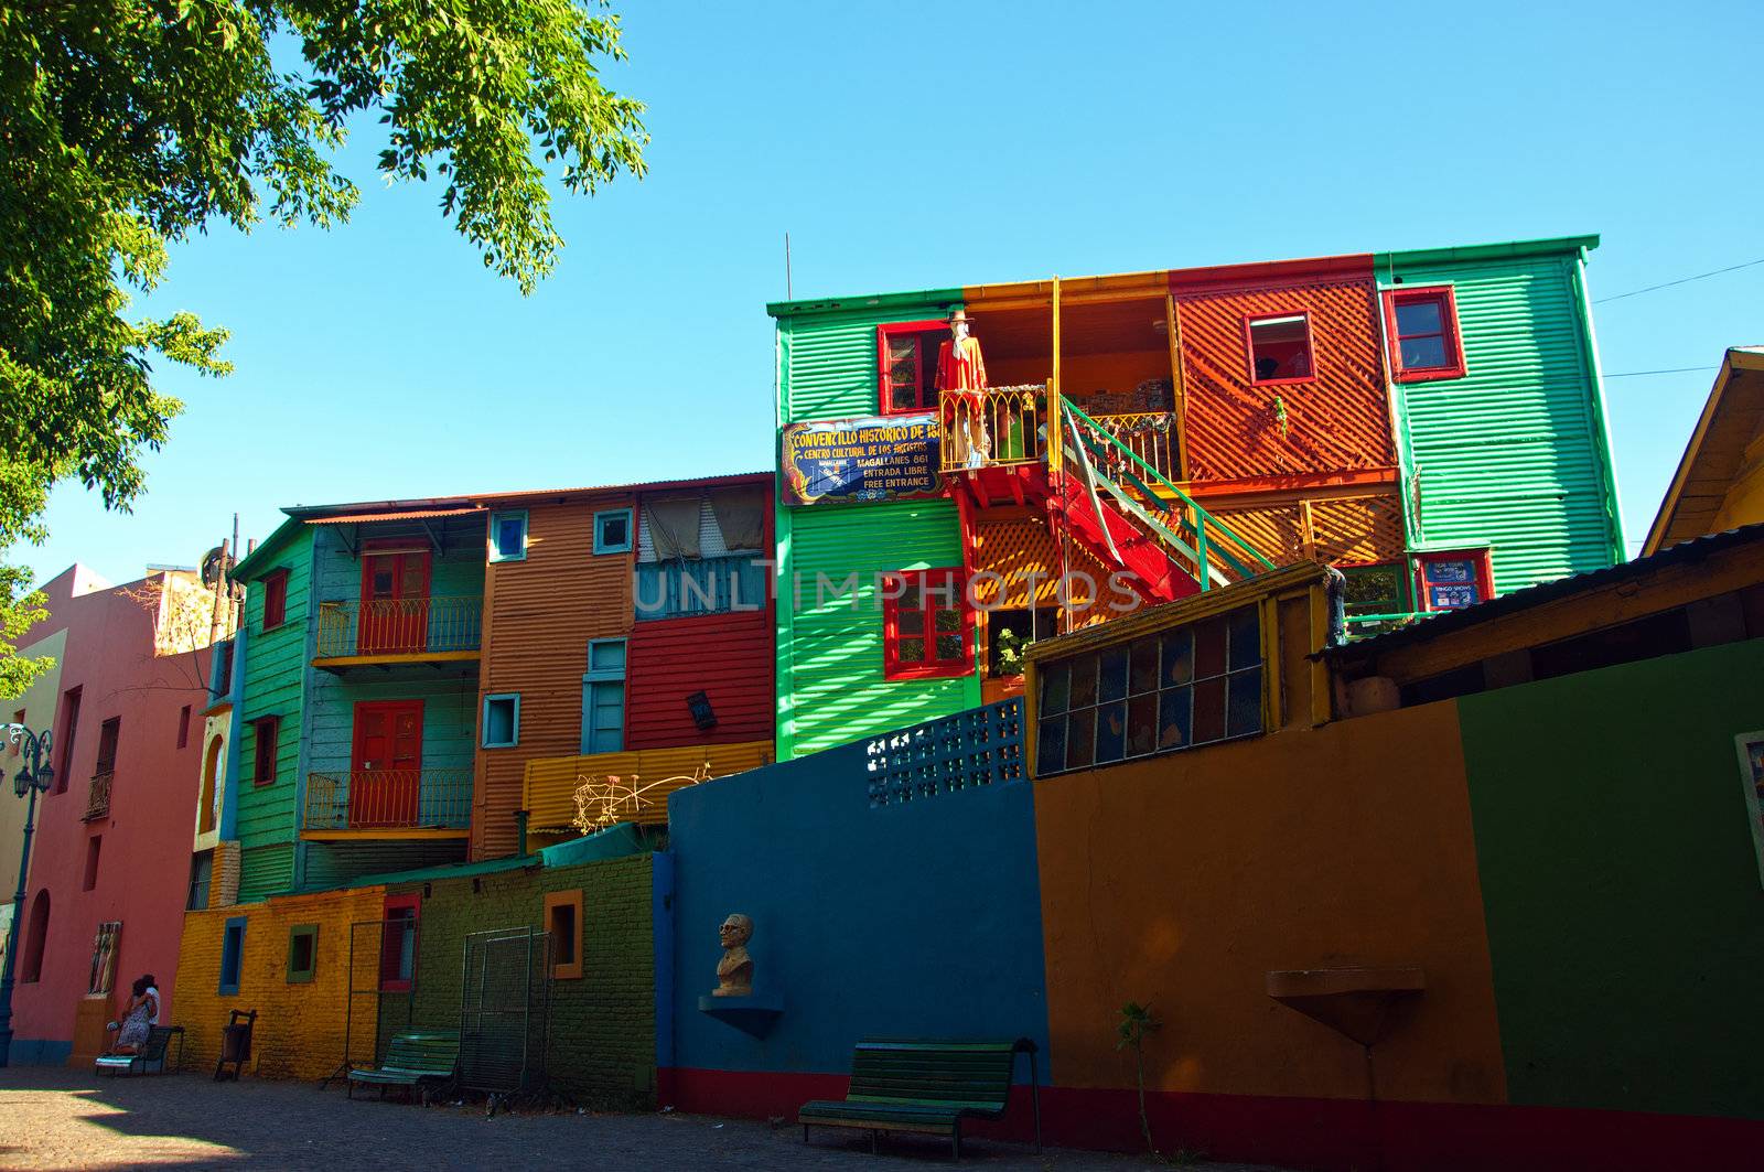
[[[203,1075],[97,1078],[85,1071],[0,1070],[0,1168],[841,1168],[951,1167],[931,1137],[884,1140],[707,1116],[496,1116],[483,1108],[406,1107],[344,1098],[314,1084],[215,1084]],[[1143,1156],[1110,1156],[974,1140],[965,1168],[986,1172],[1138,1172]],[[1208,1172],[1275,1172],[1203,1163]]]

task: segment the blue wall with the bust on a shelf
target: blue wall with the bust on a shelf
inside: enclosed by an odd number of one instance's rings
[[[1046,1052],[1030,785],[870,808],[866,761],[843,745],[669,800],[677,1068],[843,1075],[871,1034],[1027,1034]],[[699,1011],[737,911],[755,994],[785,1003],[764,1040]]]

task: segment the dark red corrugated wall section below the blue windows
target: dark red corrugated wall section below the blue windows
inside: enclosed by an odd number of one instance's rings
[[[774,665],[769,609],[633,623],[624,747],[769,741]],[[714,729],[693,724],[686,710],[693,692],[711,699]]]

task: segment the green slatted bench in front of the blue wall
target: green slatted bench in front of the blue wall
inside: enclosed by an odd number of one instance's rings
[[[1041,1147],[1041,1084],[1035,1043],[938,1041],[924,1038],[864,1038],[852,1054],[852,1086],[843,1100],[803,1103],[797,1123],[808,1128],[870,1131],[870,1151],[882,1131],[947,1135],[961,1160],[963,1119],[1002,1119],[1011,1096],[1016,1056],[1028,1054],[1030,1094],[1035,1107],[1035,1147]]]

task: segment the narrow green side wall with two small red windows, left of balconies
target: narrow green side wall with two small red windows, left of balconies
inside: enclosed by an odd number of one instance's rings
[[[288,570],[286,621],[275,630],[263,630],[263,575],[277,568]],[[238,842],[240,893],[266,895],[286,891],[295,883],[295,853],[265,851],[259,847],[293,844],[296,835],[295,810],[300,798],[300,747],[303,732],[303,681],[312,660],[312,528],[298,526],[280,549],[263,561],[254,560],[254,574],[245,590],[245,690],[240,706],[240,778],[238,778]],[[258,785],[256,761],[258,717],[282,718],[277,736],[275,782]]]

